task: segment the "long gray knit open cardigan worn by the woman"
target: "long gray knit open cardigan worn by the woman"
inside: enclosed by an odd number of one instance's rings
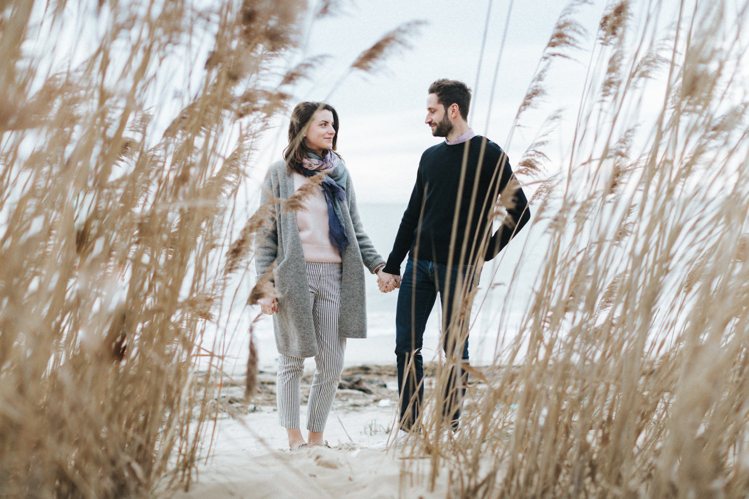
[[[343,162],[338,168],[346,168]],[[375,273],[385,263],[362,227],[351,175],[346,172],[346,201],[342,203],[344,224],[349,244],[342,255],[341,311],[338,335],[342,338],[364,338],[367,334],[367,307],[364,290],[364,269]],[[273,330],[279,353],[291,357],[314,357],[318,354],[312,304],[304,261],[302,241],[294,212],[283,211],[285,201],[294,194],[294,177],[286,163],[270,165],[263,183],[261,205],[273,203],[273,224],[255,254],[258,278],[276,262],[273,281],[279,292],[278,312],[273,314]]]

